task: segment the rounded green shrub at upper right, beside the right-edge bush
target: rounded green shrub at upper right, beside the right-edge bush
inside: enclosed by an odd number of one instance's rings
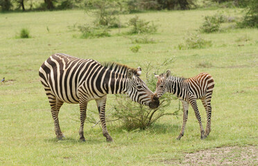
[[[203,22],[203,25],[200,26],[200,32],[217,32],[223,22],[225,22],[225,17],[223,17],[223,15],[205,16],[205,21]]]

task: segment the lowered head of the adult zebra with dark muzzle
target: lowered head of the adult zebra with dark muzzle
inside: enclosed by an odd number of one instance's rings
[[[133,72],[131,69],[127,71],[128,77],[128,95],[131,100],[138,102],[139,104],[144,104],[150,107],[150,109],[155,109],[159,107],[160,101],[153,98],[153,92],[148,89],[148,86],[143,80],[139,78],[141,75],[141,68],[137,68],[137,72]]]

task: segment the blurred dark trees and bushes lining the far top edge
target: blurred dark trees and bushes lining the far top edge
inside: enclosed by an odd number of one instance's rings
[[[191,10],[196,8],[243,8],[240,28],[258,27],[258,0],[0,0],[1,12],[84,9],[94,11],[95,25],[121,26],[115,15],[148,10]],[[89,30],[89,27],[86,28]],[[91,31],[92,28],[90,28]],[[104,32],[104,35],[107,33]]]

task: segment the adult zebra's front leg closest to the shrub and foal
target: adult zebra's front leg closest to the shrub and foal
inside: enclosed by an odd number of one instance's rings
[[[105,136],[105,138],[107,138],[107,142],[112,142],[113,138],[108,133],[107,126],[105,124],[105,102],[106,102],[106,100],[107,100],[107,95],[105,95],[103,98],[96,99],[96,104],[98,107],[99,118],[101,120],[103,136]]]

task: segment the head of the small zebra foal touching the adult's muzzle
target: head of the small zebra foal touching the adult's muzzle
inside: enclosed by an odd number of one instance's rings
[[[159,99],[164,93],[166,93],[166,83],[167,78],[171,75],[171,71],[168,70],[166,73],[162,73],[161,75],[156,75],[154,73],[155,77],[157,78],[157,84],[156,84],[156,91],[153,95],[153,98]]]

